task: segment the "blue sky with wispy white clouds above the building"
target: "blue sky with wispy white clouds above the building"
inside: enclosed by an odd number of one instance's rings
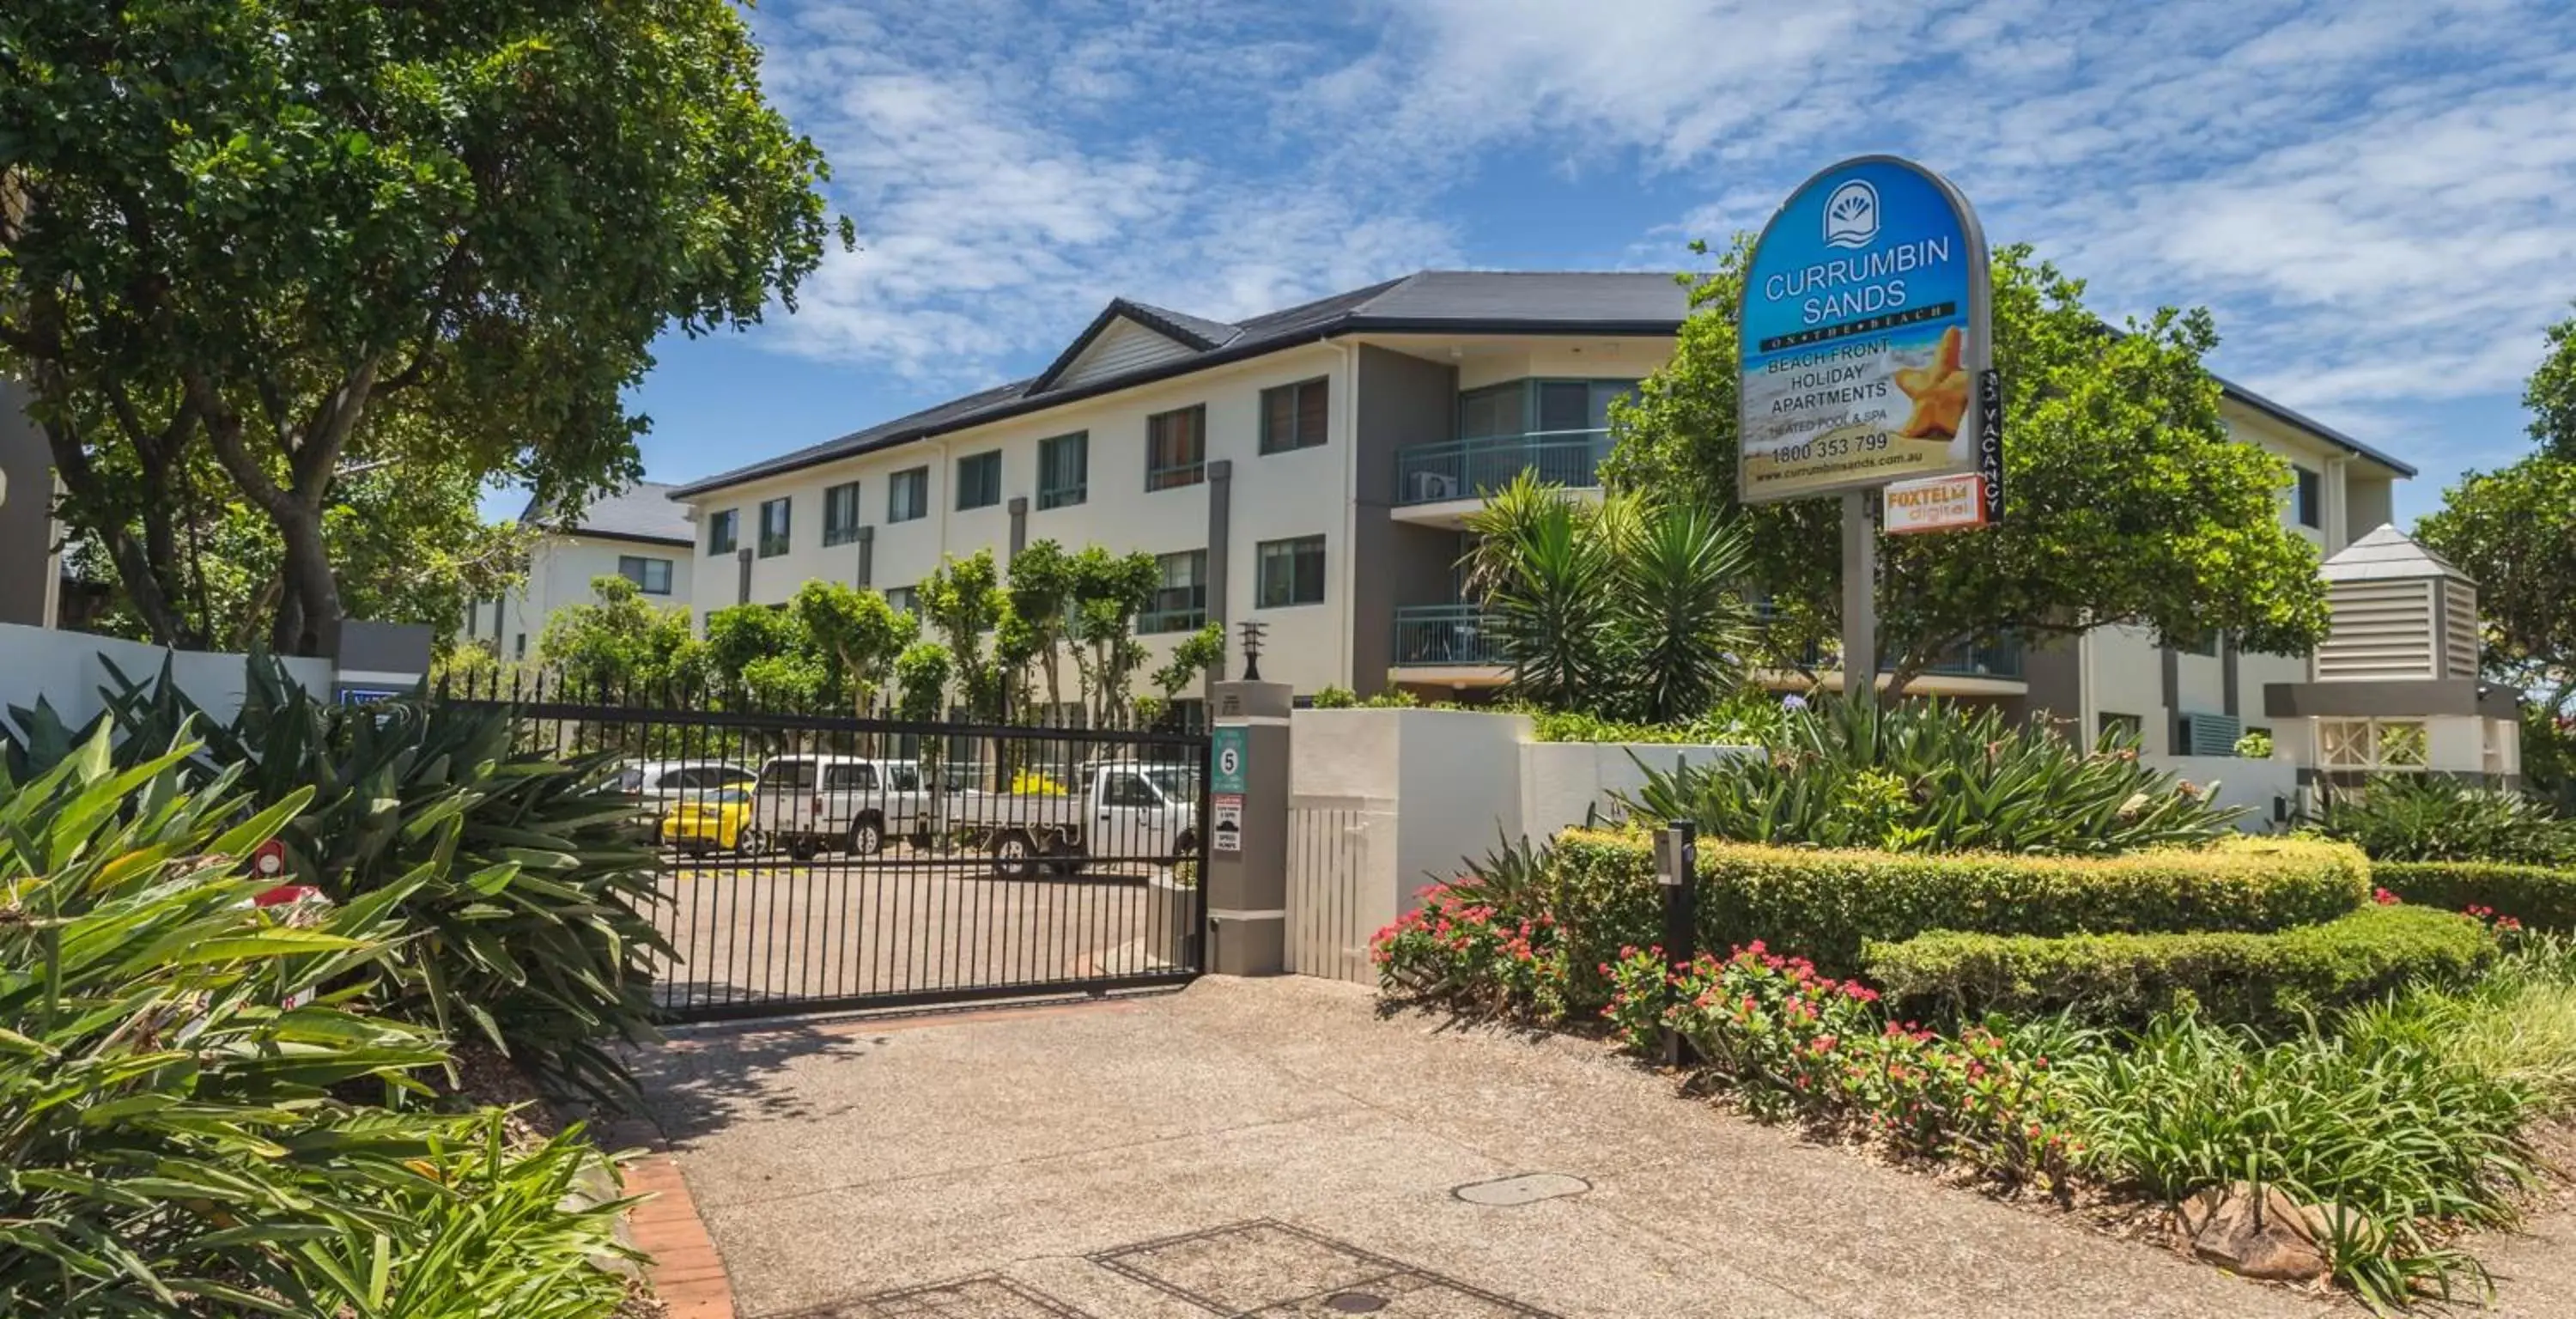
[[[2576,299],[2566,0],[765,0],[860,234],[634,404],[683,482],[1051,361],[1110,296],[1234,319],[1419,268],[1682,270],[1919,160],[2112,317],[2416,464],[2530,448]],[[507,500],[500,500],[507,505]],[[515,513],[515,508],[510,508]]]

